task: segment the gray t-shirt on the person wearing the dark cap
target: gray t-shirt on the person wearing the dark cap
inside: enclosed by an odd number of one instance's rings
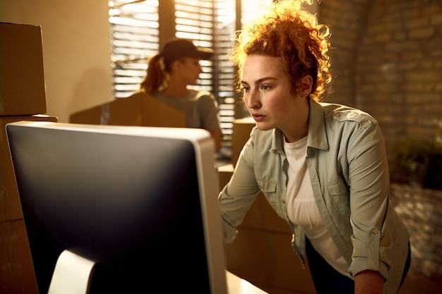
[[[187,128],[220,129],[218,104],[215,96],[210,92],[191,90],[184,97],[169,97],[164,92],[157,91],[152,96],[183,111],[186,114]]]

